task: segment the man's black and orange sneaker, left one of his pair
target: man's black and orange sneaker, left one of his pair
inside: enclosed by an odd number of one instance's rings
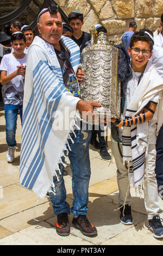
[[[58,235],[70,235],[70,224],[68,222],[68,216],[66,212],[62,212],[57,216],[57,223],[55,224],[55,226]]]

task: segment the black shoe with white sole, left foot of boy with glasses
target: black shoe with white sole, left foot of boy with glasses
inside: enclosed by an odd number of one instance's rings
[[[122,205],[120,205],[122,206]],[[125,225],[131,225],[133,224],[133,217],[131,215],[131,206],[129,206],[128,204],[125,205],[125,209],[124,209],[124,216],[123,216],[123,209],[124,206],[122,206],[122,208],[120,208],[120,221],[125,224]]]

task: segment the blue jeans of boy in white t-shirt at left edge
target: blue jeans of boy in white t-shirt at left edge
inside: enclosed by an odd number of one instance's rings
[[[22,123],[22,105],[4,105],[4,116],[5,116],[5,132],[6,132],[6,141],[9,147],[16,146],[16,123],[17,123],[17,113],[20,110],[20,118]]]

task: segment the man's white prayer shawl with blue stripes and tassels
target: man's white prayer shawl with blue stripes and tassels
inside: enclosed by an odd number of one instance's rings
[[[65,36],[61,36],[61,42],[70,53],[70,62],[76,73],[80,49]],[[67,138],[73,131],[79,100],[64,86],[53,46],[35,36],[28,50],[24,84],[20,182],[41,198],[54,187],[53,176],[57,175]],[[68,118],[71,126],[55,129],[55,122],[66,120],[67,108],[71,113]]]

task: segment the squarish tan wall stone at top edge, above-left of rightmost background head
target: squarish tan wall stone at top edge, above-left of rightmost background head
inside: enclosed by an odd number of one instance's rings
[[[118,19],[129,19],[134,17],[133,0],[112,0],[112,5],[116,11]]]

